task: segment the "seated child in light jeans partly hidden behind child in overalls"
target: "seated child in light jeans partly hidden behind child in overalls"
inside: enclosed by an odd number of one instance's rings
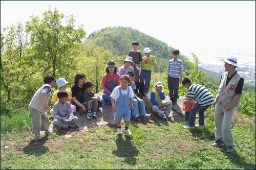
[[[129,86],[131,86],[132,89],[135,90],[136,85],[134,83],[133,72],[128,72],[127,76],[129,76],[129,79],[130,79]],[[134,120],[139,120],[141,116],[143,117],[144,120],[148,120],[151,117],[151,114],[146,113],[144,101],[138,98],[136,94],[134,95],[134,98],[133,98],[133,110],[131,115],[134,117]]]

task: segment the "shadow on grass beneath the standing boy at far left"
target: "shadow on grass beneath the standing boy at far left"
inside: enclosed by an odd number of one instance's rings
[[[48,139],[48,135],[43,137],[41,140],[31,140],[26,147],[23,148],[23,152],[27,155],[41,156],[49,151],[48,147],[44,144]]]

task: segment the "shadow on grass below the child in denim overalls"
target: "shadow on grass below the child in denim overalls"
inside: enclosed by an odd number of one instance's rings
[[[125,136],[124,140],[121,135],[118,135],[116,146],[117,150],[113,151],[114,155],[125,157],[125,162],[127,164],[135,165],[137,163],[135,156],[138,155],[139,150],[133,145],[130,137]]]

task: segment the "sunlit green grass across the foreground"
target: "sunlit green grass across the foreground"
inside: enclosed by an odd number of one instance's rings
[[[206,127],[191,131],[182,126],[163,120],[132,122],[132,138],[118,136],[116,128],[107,126],[59,132],[41,141],[31,140],[27,131],[1,133],[1,169],[255,168],[255,125],[232,126],[237,146],[229,154],[226,147],[210,146],[214,122],[206,119]],[[61,136],[66,134],[72,137]]]

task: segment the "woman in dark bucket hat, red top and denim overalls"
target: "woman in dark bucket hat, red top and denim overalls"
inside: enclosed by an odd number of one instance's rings
[[[111,103],[111,96],[113,89],[120,85],[120,75],[117,74],[117,67],[115,61],[108,61],[106,66],[106,74],[102,77],[102,98],[107,104]]]

